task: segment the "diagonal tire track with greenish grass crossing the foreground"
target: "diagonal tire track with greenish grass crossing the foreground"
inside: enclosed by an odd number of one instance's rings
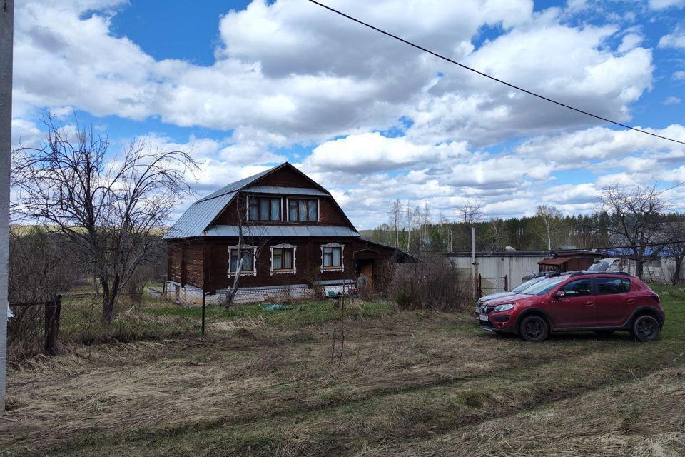
[[[682,351],[682,345],[680,346],[679,350]],[[430,436],[432,433],[442,433],[455,427],[516,413],[545,402],[573,398],[597,388],[649,374],[669,361],[669,357],[676,355],[678,351],[678,348],[660,351],[660,348],[649,350],[646,347],[635,346],[633,350],[623,354],[617,354],[612,347],[563,360],[546,358],[527,366],[509,368],[499,375],[483,373],[482,376],[469,379],[446,379],[399,391],[382,391],[353,401],[333,402],[325,406],[261,416],[244,423],[214,421],[201,426],[100,438],[114,446],[123,441],[141,443],[155,438],[161,441],[168,438],[181,446],[178,440],[193,441],[193,436],[204,436],[211,441],[212,437],[220,435],[223,436],[219,441],[223,439],[221,447],[224,451],[233,449],[233,453],[198,455],[241,455],[246,451],[243,444],[253,441],[256,443],[255,448],[247,451],[254,455],[271,455],[275,450],[283,451],[283,455],[317,455],[319,451],[322,451],[322,456],[333,455],[331,451],[334,449],[337,450],[336,453],[347,453],[355,451],[362,444],[377,444],[379,437],[385,441],[407,436]],[[550,378],[550,372],[559,376]],[[564,376],[559,373],[564,373]],[[589,374],[592,376],[588,376]],[[487,392],[487,395],[477,394],[482,391]],[[350,423],[357,422],[366,422],[367,431],[349,428]],[[328,424],[328,428],[338,433],[330,433],[330,430],[326,427],[322,429],[318,423]],[[384,423],[386,426],[383,426]],[[316,429],[320,429],[320,433],[312,433]],[[226,433],[232,433],[244,440],[227,438]],[[55,450],[56,455],[60,452],[72,453],[74,447],[92,442],[96,436],[97,434],[61,446]],[[268,437],[265,439],[265,442],[270,443],[268,446],[259,444],[260,437],[264,436]],[[359,436],[364,439],[359,440]],[[355,438],[359,443],[350,446],[349,443],[354,442]],[[263,452],[259,451],[260,446]],[[175,453],[173,446],[165,449],[169,453]],[[306,452],[300,453],[298,449]],[[323,452],[324,449],[326,452]]]

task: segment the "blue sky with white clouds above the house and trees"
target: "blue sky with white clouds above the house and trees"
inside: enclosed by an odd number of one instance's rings
[[[685,0],[328,2],[493,76],[685,141]],[[360,229],[394,199],[455,219],[588,212],[611,184],[685,181],[685,149],[602,125],[304,0],[16,4],[14,144],[40,115],[192,151],[201,196],[280,161]],[[48,77],[46,77],[48,76]],[[685,210],[685,192],[669,192]],[[184,205],[172,215],[178,216]]]

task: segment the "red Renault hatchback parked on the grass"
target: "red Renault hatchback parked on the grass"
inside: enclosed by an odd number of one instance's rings
[[[638,341],[654,341],[664,326],[659,296],[623,272],[577,271],[540,281],[525,293],[488,301],[480,308],[480,328],[517,333],[544,341],[550,332],[629,331]]]

